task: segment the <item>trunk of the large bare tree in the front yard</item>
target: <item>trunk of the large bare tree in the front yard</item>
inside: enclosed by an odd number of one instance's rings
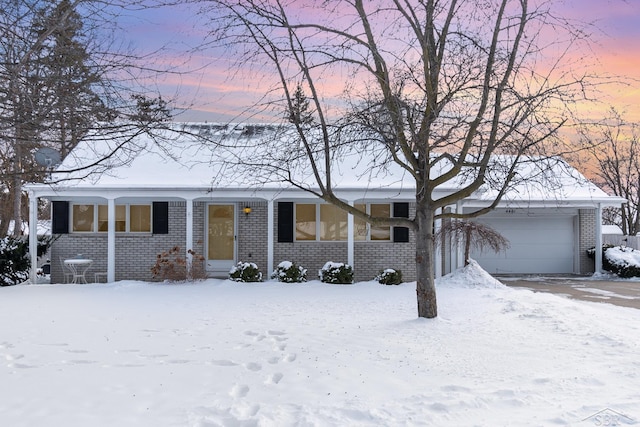
[[[418,316],[432,319],[438,316],[433,245],[434,211],[418,204],[416,209],[416,294]]]

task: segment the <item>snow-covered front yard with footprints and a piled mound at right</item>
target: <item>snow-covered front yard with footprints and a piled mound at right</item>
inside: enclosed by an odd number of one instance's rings
[[[0,288],[2,426],[640,424],[640,311],[504,287]]]

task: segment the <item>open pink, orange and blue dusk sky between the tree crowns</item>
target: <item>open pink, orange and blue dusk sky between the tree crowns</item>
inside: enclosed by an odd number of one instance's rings
[[[558,0],[558,13],[584,22],[594,22],[593,53],[589,64],[598,73],[629,79],[630,85],[617,85],[602,94],[603,105],[625,112],[628,119],[640,121],[640,0]],[[243,107],[264,92],[260,82],[229,78],[230,58],[209,51],[198,56],[185,52],[203,39],[202,22],[197,22],[186,6],[132,15],[123,19],[125,37],[139,51],[161,46],[168,50],[161,61],[181,69],[206,68],[183,75],[167,75],[158,88],[168,98],[177,98],[190,112],[178,120],[237,120]],[[604,107],[603,107],[604,109]]]

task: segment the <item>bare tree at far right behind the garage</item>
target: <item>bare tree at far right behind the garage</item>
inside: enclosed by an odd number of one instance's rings
[[[583,124],[579,135],[587,173],[605,190],[627,199],[620,208],[605,211],[603,220],[635,236],[640,232],[640,126],[611,108],[601,122]]]

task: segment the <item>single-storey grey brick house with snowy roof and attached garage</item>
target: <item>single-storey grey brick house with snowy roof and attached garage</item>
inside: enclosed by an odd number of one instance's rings
[[[272,129],[253,125],[247,133],[239,127],[181,126],[193,133],[235,132],[248,139]],[[38,198],[52,202],[52,234],[57,236],[51,248],[52,283],[64,278],[58,260],[76,254],[93,259],[91,271],[106,273],[110,282],[150,280],[156,256],[174,246],[202,254],[212,277],[226,277],[239,261],[254,262],[268,275],[288,260],[308,268],[310,278],[325,262],[335,261],[353,265],[357,280],[372,279],[384,268],[401,269],[405,280],[415,280],[415,240],[407,228],[370,227],[303,190],[277,181],[258,183],[255,171],[238,173],[224,161],[229,151],[185,135],[161,144],[140,136],[128,142],[127,150],[109,155],[122,143],[116,138],[87,141],[52,174],[51,184],[26,186],[32,217]],[[363,157],[358,152],[341,158],[342,173],[334,179],[338,197],[376,216],[411,218],[415,182],[393,166],[372,173]],[[94,164],[96,159],[103,161]],[[608,196],[565,162],[555,159],[551,167],[552,178],[542,185],[533,178],[539,174],[533,166],[523,167],[519,173],[530,174],[531,180],[511,189],[497,209],[478,219],[510,241],[502,253],[472,254],[488,272],[599,270],[601,260],[594,265],[586,250],[601,244],[602,208],[623,200]],[[449,209],[467,212],[486,206],[492,196],[484,190]],[[463,264],[453,245],[443,245],[439,259],[438,274]]]

